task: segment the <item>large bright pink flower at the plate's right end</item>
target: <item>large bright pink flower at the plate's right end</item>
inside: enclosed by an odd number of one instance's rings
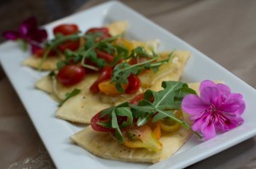
[[[187,95],[182,108],[194,121],[192,130],[201,131],[206,140],[216,136],[216,132],[227,132],[243,122],[241,114],[246,104],[239,93],[231,93],[230,87],[212,81],[201,82],[200,97]]]

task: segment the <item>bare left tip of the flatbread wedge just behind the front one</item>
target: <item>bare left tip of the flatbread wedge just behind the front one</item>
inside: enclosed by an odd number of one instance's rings
[[[67,121],[90,123],[90,119],[100,110],[106,109],[112,104],[102,103],[99,94],[90,93],[90,86],[96,81],[97,75],[87,75],[83,82],[74,87],[63,87],[61,84],[56,85],[58,96],[72,92],[73,88],[81,89],[81,92],[67,100],[55,112],[55,116]]]

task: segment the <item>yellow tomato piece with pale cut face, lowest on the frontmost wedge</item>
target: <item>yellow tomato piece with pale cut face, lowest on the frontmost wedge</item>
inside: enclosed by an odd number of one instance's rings
[[[163,145],[154,137],[154,133],[148,125],[142,127],[129,127],[122,131],[124,144],[130,148],[146,148],[160,151]]]

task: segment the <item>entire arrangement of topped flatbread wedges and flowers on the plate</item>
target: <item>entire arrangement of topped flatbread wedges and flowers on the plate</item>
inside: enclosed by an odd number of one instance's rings
[[[242,124],[240,93],[222,82],[178,82],[190,53],[156,52],[158,40],[128,40],[126,28],[119,21],[81,35],[78,25],[57,25],[43,45],[47,33],[31,18],[3,35],[31,46],[25,65],[51,70],[36,86],[59,102],[57,117],[90,123],[71,140],[92,154],[155,163],[192,133],[208,140]]]

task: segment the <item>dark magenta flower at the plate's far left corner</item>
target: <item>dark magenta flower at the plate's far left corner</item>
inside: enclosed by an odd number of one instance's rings
[[[3,37],[13,41],[21,39],[27,42],[31,45],[32,54],[34,54],[38,48],[41,48],[41,43],[47,39],[47,32],[39,29],[36,18],[31,17],[20,24],[18,31],[4,31]]]

